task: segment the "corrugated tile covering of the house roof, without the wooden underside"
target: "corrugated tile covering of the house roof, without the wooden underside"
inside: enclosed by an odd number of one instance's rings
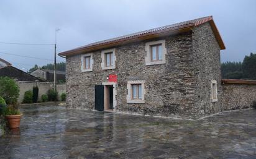
[[[182,28],[185,28],[185,27],[194,27],[194,26],[201,25],[201,24],[204,24],[204,23],[209,22],[209,21],[213,21],[212,16],[202,17],[202,18],[199,18],[199,19],[188,20],[188,21],[185,21],[185,22],[180,22],[180,23],[172,24],[172,25],[166,25],[166,26],[163,26],[163,27],[152,28],[152,29],[145,30],[145,31],[142,31],[142,32],[132,33],[132,34],[129,34],[129,35],[124,35],[124,36],[121,36],[121,37],[116,37],[116,38],[111,38],[111,39],[107,39],[107,40],[103,40],[103,41],[98,41],[98,42],[95,42],[95,43],[89,43],[88,45],[81,46],[81,47],[78,47],[78,48],[75,48],[75,49],[71,49],[69,51],[59,53],[59,55],[66,56],[66,55],[69,55],[69,54],[73,54],[76,51],[81,51],[83,49],[94,48],[96,46],[107,45],[109,43],[115,43],[115,42],[118,43],[120,41],[125,41],[125,40],[130,39],[130,38],[140,37],[142,35],[148,35],[148,34],[152,35],[153,33],[160,33],[160,32],[165,32],[165,31],[168,32],[168,31],[171,31],[171,30],[178,30],[178,29],[182,29]],[[223,43],[223,41],[222,41],[222,39],[219,35],[219,32],[217,31],[217,27],[214,24],[214,22],[211,23],[211,26],[213,27],[213,30],[214,30],[214,33],[216,34],[216,36],[219,36],[219,38],[217,38],[217,40],[219,40],[218,42],[219,42],[221,48],[225,49],[224,43]]]

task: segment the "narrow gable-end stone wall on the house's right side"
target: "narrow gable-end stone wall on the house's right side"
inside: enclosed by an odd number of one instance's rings
[[[220,47],[209,23],[193,28],[194,73],[196,75],[195,116],[201,118],[222,111]],[[217,81],[217,101],[211,100],[211,80]]]

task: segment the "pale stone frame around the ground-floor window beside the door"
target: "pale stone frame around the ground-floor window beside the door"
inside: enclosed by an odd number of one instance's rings
[[[140,99],[132,99],[132,84],[141,84],[141,100]],[[145,91],[145,81],[144,80],[128,80],[127,81],[127,103],[145,103],[144,95]]]

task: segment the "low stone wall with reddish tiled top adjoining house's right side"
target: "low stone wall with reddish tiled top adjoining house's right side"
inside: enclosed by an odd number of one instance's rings
[[[256,101],[256,80],[222,80],[222,106],[225,110],[250,108]]]

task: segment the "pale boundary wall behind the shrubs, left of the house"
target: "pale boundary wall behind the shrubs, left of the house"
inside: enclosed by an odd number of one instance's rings
[[[24,93],[27,90],[33,90],[33,87],[37,85],[39,87],[39,99],[41,99],[41,96],[43,94],[46,94],[47,91],[50,88],[53,88],[52,82],[26,82],[26,81],[17,81],[17,84],[19,85],[19,98],[18,102],[22,103],[22,100],[24,99]],[[57,91],[58,91],[58,99],[60,100],[60,95],[62,93],[66,92],[66,85],[65,84],[59,84],[57,85]]]

